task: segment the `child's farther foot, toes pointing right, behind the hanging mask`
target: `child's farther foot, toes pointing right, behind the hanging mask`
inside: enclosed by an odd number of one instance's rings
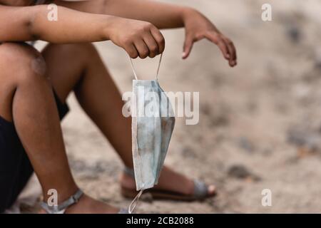
[[[124,190],[136,190],[135,180],[131,175],[126,174],[125,172],[121,175],[121,187]],[[173,197],[169,197],[168,199],[186,199],[193,200],[197,199],[195,197],[195,182],[190,180],[188,177],[181,175],[173,170],[170,170],[168,167],[163,167],[161,172],[161,177],[159,178],[158,185],[153,187],[153,190],[160,190],[166,192],[166,194],[158,194],[160,198],[165,198],[164,196],[168,195],[168,193],[173,192]],[[206,191],[206,190],[205,190]],[[135,193],[135,192],[134,192]],[[130,197],[129,194],[125,194]],[[207,191],[203,197],[212,197],[216,195],[216,188],[214,185],[208,185]]]

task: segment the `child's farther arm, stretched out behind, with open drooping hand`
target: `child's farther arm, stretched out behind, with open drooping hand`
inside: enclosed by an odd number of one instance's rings
[[[208,38],[223,53],[230,66],[236,65],[235,47],[203,14],[184,6],[164,4],[151,0],[95,0],[95,1],[56,1],[56,4],[88,11],[96,14],[109,14],[130,19],[149,21],[158,28],[179,28],[185,26],[183,58],[187,58],[195,41]]]

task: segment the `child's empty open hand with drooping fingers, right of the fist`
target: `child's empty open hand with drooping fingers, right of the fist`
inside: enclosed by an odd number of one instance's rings
[[[215,43],[222,51],[223,56],[228,60],[231,67],[237,64],[235,46],[229,38],[225,37],[205,16],[198,11],[188,9],[184,15],[185,43],[183,58],[188,58],[195,41],[207,38]]]

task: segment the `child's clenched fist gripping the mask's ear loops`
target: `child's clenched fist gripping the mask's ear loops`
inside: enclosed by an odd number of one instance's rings
[[[165,49],[162,33],[146,21],[114,17],[108,28],[108,37],[125,49],[131,58],[153,58]]]

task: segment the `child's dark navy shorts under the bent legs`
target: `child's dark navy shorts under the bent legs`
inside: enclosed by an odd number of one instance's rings
[[[60,119],[68,113],[55,93]],[[11,207],[34,170],[21,145],[14,123],[0,117],[0,213]]]

